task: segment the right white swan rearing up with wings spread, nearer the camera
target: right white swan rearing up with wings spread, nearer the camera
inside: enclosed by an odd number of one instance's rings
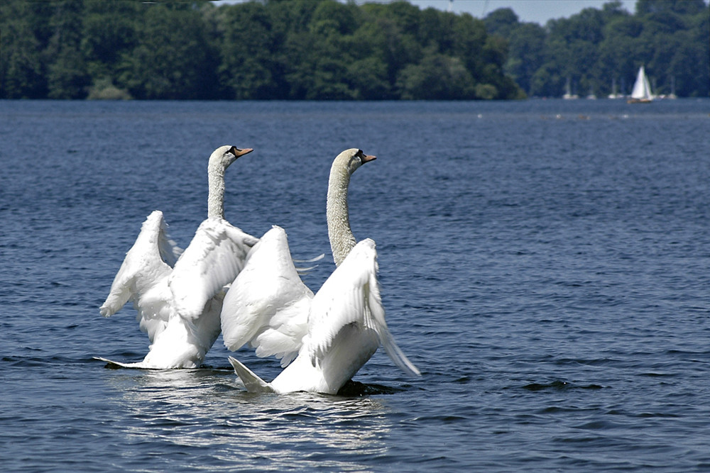
[[[347,191],[356,169],[375,157],[353,148],[333,161],[327,195],[328,235],[337,266],[314,295],[298,277],[288,238],[278,226],[253,247],[222,306],[224,345],[245,343],[274,355],[283,371],[268,383],[234,357],[229,362],[251,392],[337,394],[380,345],[404,372],[420,372],[388,330],[377,279],[375,242],[356,243]]]

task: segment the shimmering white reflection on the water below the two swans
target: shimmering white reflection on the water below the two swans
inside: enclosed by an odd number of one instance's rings
[[[390,409],[369,397],[250,394],[227,369],[111,373],[127,415],[123,455],[205,469],[364,469],[386,455]],[[361,385],[362,386],[362,385]],[[171,454],[176,455],[171,455]],[[190,460],[184,454],[189,453]],[[202,460],[201,460],[202,457]]]

